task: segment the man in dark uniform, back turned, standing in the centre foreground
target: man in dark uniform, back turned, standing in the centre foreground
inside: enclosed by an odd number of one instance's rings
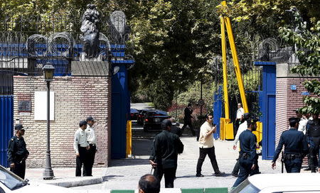
[[[165,187],[174,187],[178,153],[183,152],[183,143],[176,134],[170,132],[169,119],[162,121],[161,128],[163,131],[154,138],[149,162],[154,167],[154,176],[158,177],[159,181],[164,176]]]

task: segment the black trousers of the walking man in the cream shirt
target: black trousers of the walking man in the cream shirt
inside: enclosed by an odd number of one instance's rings
[[[215,159],[215,146],[212,148],[199,148],[199,158],[197,163],[197,174],[201,174],[201,167],[203,165],[203,161],[205,160],[206,156],[209,156],[211,165],[215,173],[219,172],[219,167],[217,160]]]

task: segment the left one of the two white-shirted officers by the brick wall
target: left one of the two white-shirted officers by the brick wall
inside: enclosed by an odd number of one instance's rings
[[[79,128],[75,131],[75,140],[73,141],[73,148],[76,155],[76,167],[75,176],[81,176],[81,167],[83,165],[83,176],[87,176],[88,165],[88,153],[90,150],[90,145],[87,143],[87,134],[85,133],[85,128],[87,128],[87,121],[82,120],[79,123]]]

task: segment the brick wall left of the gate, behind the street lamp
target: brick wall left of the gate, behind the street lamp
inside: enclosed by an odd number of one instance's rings
[[[43,167],[46,160],[46,121],[34,120],[34,93],[46,91],[43,77],[14,77],[14,118],[26,130],[30,155],[27,167]],[[55,120],[50,121],[50,150],[53,167],[75,167],[74,133],[79,121],[91,115],[97,119],[95,167],[110,159],[111,79],[108,77],[55,77],[50,83],[55,92]],[[31,100],[30,114],[18,112],[18,100]]]

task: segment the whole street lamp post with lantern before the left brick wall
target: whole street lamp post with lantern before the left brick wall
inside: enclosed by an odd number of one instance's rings
[[[53,170],[50,158],[50,82],[53,81],[53,72],[55,67],[49,62],[43,67],[44,81],[47,82],[47,151],[46,151],[46,167],[43,172],[43,180],[52,180]]]

